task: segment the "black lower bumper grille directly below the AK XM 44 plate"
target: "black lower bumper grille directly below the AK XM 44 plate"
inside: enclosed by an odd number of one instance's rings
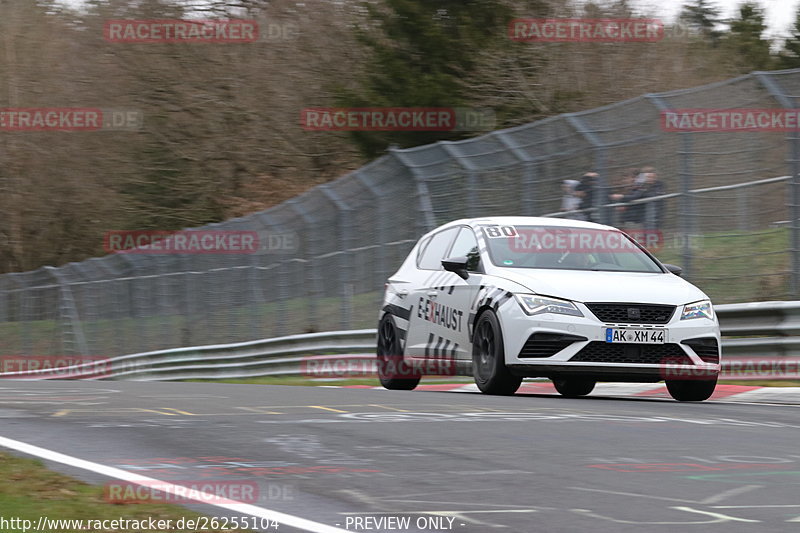
[[[677,344],[615,344],[601,341],[590,342],[570,361],[652,365],[692,364],[692,360]]]

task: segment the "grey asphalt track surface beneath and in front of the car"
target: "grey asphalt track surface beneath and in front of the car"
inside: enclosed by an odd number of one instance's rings
[[[4,381],[0,436],[164,481],[255,481],[259,498],[249,503],[349,531],[751,533],[800,529],[799,409]],[[410,526],[381,528],[382,517]],[[435,520],[418,528],[420,518]]]

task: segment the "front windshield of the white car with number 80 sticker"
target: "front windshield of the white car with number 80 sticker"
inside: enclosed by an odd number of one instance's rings
[[[492,263],[507,268],[664,272],[618,230],[563,226],[483,226]]]

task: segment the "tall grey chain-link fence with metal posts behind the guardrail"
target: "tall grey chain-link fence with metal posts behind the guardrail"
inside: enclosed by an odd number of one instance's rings
[[[7,354],[117,355],[373,327],[383,282],[418,237],[462,217],[573,216],[562,182],[598,173],[592,217],[628,224],[630,169],[664,195],[641,201],[658,252],[718,303],[798,296],[800,144],[790,131],[667,131],[662,112],[794,108],[800,70],[651,94],[462,142],[388,155],[330,184],[206,230],[247,230],[291,249],[117,253],[0,276]],[[617,198],[617,200],[614,200]],[[641,222],[641,220],[640,220]]]

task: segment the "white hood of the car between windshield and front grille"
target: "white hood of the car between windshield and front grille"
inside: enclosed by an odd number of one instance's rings
[[[578,302],[647,302],[681,305],[707,296],[674,274],[498,268],[493,275],[544,296]]]

